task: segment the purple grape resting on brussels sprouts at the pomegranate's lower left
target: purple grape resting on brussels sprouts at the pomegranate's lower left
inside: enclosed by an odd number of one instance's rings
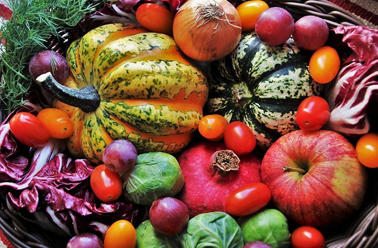
[[[189,211],[181,200],[164,197],[155,200],[150,209],[151,225],[164,235],[180,233],[188,224]]]

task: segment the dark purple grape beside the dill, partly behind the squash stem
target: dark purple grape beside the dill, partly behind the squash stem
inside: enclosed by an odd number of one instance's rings
[[[51,72],[55,80],[62,84],[68,76],[67,60],[59,53],[51,50],[38,52],[29,61],[29,73],[31,79],[36,78],[46,72]]]

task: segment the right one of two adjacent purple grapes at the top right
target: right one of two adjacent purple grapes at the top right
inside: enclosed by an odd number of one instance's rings
[[[323,47],[328,35],[327,23],[317,16],[304,16],[294,25],[294,42],[304,50],[314,51]]]

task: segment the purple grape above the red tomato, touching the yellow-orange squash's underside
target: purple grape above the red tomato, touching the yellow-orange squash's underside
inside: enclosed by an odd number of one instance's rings
[[[102,153],[102,161],[114,172],[130,170],[136,163],[138,153],[135,146],[127,140],[115,140]]]

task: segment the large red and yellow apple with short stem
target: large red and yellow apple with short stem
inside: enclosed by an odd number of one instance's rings
[[[298,130],[279,138],[263,158],[261,177],[277,208],[309,226],[350,216],[360,207],[367,186],[354,146],[325,130]]]

